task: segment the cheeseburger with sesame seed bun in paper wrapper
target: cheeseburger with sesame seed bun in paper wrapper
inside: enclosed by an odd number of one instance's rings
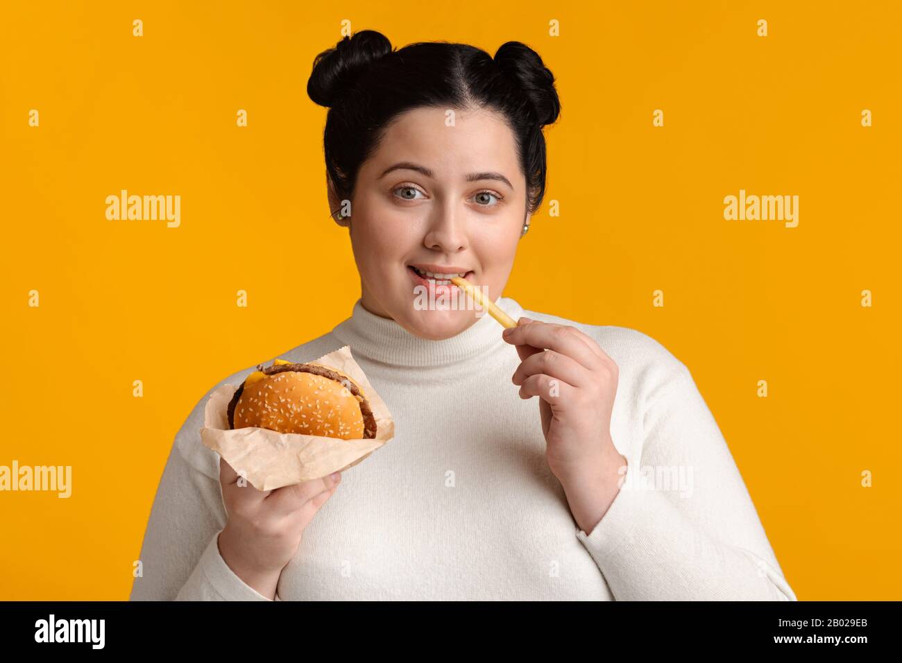
[[[364,390],[335,368],[276,359],[247,376],[228,404],[229,428],[340,439],[376,437],[376,419]]]

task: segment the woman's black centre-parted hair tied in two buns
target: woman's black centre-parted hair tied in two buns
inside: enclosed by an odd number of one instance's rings
[[[560,114],[554,75],[520,41],[494,58],[482,49],[420,41],[394,51],[382,32],[363,30],[318,54],[307,93],[327,106],[326,171],[339,199],[354,193],[361,164],[376,150],[391,120],[419,106],[485,107],[500,113],[514,134],[527,184],[527,209],[545,196],[542,127]]]

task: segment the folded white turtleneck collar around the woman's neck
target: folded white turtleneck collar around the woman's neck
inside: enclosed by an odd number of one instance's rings
[[[523,315],[523,308],[514,299],[499,297],[495,304],[514,320]],[[457,336],[430,340],[411,334],[391,318],[368,311],[361,299],[354,303],[351,317],[337,325],[332,334],[350,345],[354,355],[410,367],[455,364],[490,352],[498,345],[507,345],[502,326],[488,311],[483,311],[481,318]]]

